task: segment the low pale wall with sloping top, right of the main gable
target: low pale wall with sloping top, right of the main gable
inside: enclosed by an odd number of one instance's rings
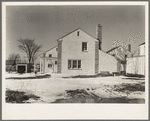
[[[101,71],[117,72],[118,61],[115,57],[99,50],[99,73]]]

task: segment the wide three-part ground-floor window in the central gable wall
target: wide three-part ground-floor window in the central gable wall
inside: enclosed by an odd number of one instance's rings
[[[68,69],[80,69],[81,60],[68,60]]]

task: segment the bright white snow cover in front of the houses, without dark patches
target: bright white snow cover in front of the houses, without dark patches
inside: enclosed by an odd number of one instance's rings
[[[28,77],[31,74],[6,74],[6,77]],[[144,92],[121,93],[113,91],[114,85],[123,83],[141,83],[145,80],[133,80],[124,76],[98,77],[98,78],[61,78],[62,75],[54,74],[51,78],[44,79],[6,79],[6,88],[11,90],[25,91],[41,97],[44,103],[54,102],[56,99],[64,98],[65,90],[86,89],[93,91],[100,97],[122,97],[144,98]]]

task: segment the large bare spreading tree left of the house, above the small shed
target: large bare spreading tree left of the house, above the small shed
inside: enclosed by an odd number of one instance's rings
[[[34,40],[31,39],[21,39],[18,40],[19,49],[26,53],[28,62],[30,64],[34,64],[34,60],[36,59],[36,55],[41,49],[41,45],[37,45]]]

